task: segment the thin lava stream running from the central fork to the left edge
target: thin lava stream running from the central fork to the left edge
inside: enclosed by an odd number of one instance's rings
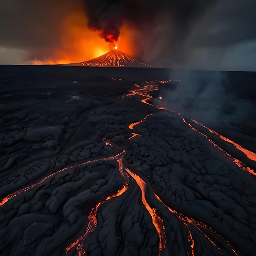
[[[3,198],[2,201],[0,202],[0,206],[2,206],[3,204],[5,204],[6,202],[8,202],[10,199],[16,197],[17,195],[20,195],[21,193],[24,193],[25,191],[29,190],[29,189],[32,189],[34,188],[35,186],[38,186],[40,185],[41,183],[43,183],[45,180],[48,180],[50,177],[56,175],[57,173],[60,173],[60,172],[63,172],[63,171],[66,171],[68,169],[71,169],[71,168],[75,168],[75,167],[79,167],[79,166],[82,166],[84,164],[89,164],[89,163],[94,163],[94,162],[99,162],[99,161],[109,161],[109,160],[114,160],[114,159],[119,159],[120,157],[123,157],[124,155],[124,152],[123,151],[122,153],[118,154],[118,155],[115,155],[115,156],[112,156],[112,157],[106,157],[106,158],[99,158],[99,159],[94,159],[94,160],[91,160],[91,161],[87,161],[87,162],[83,162],[81,164],[76,164],[76,165],[72,165],[70,167],[65,167],[55,173],[52,173],[46,177],[44,177],[43,179],[39,180],[38,182],[30,185],[30,186],[27,186],[26,188],[24,189],[20,189],[18,191],[15,191],[9,195],[7,195],[7,197]]]

